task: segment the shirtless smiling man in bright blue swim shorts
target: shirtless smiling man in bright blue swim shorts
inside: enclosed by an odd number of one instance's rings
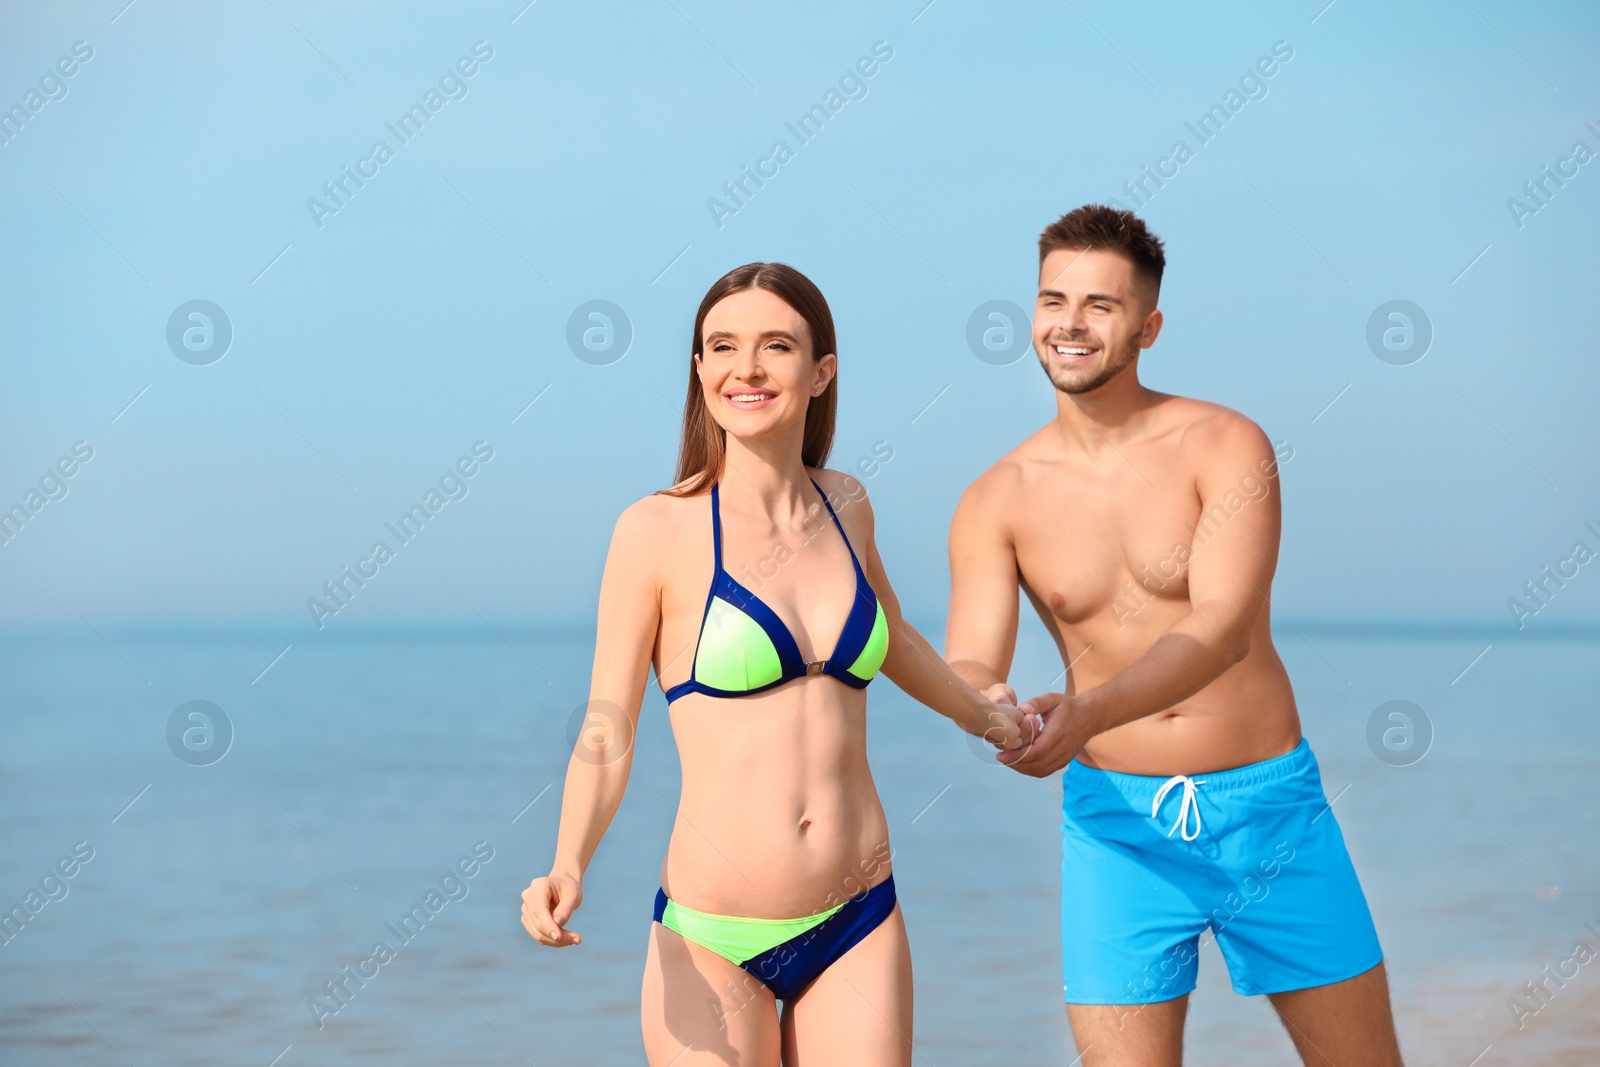
[[[946,659],[992,699],[1018,587],[1069,665],[998,758],[1062,776],[1061,936],[1086,1067],[1179,1064],[1200,934],[1307,1064],[1398,1064],[1382,950],[1272,646],[1277,456],[1221,405],[1139,384],[1162,242],[1090,205],[1038,242],[1056,418],[962,496]],[[1226,342],[1214,352],[1226,354]]]

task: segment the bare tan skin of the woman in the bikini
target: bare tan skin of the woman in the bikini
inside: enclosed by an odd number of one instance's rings
[[[837,357],[814,354],[805,320],[765,290],[718,301],[702,334],[696,373],[726,432],[725,569],[778,613],[806,661],[832,651],[854,597],[854,569],[814,478],[848,501],[835,504],[838,518],[883,605],[890,646],[880,673],[970,733],[1000,747],[1022,744],[1034,725],[1024,726],[1016,707],[992,704],[963,681],[902,619],[859,482],[802,462],[806,405],[832,379]],[[766,398],[746,406],[734,400],[739,395]],[[792,555],[776,573],[771,565],[757,571],[776,545]],[[747,565],[758,585],[742,577]],[[712,569],[709,494],[648,496],[618,520],[600,582],[590,680],[592,707],[629,720],[614,736],[632,736],[651,669],[662,689],[690,677]],[[667,896],[715,915],[797,918],[888,878],[888,822],[867,766],[866,710],[864,689],[827,675],[738,699],[691,693],[674,701],[683,789],[661,867]],[[522,894],[522,925],[541,945],[582,941],[566,923],[621,803],[632,749],[608,757],[574,753],[555,862]],[[899,907],[782,1014],[750,974],[653,925],[642,1025],[646,1057],[658,1067],[779,1059],[909,1065],[912,973]]]

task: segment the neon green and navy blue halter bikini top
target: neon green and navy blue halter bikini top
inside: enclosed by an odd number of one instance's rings
[[[669,704],[688,693],[747,696],[818,673],[864,689],[878,673],[890,649],[890,624],[883,617],[883,605],[878,603],[872,585],[867,584],[867,576],[861,571],[861,560],[856,558],[856,550],[850,545],[850,537],[845,534],[845,526],[838,522],[834,506],[829,504],[827,493],[822,493],[822,486],[816,480],[811,485],[822,496],[827,514],[838,526],[838,536],[845,537],[850,561],[856,568],[856,600],[851,603],[845,629],[834,645],[834,654],[813,662],[802,659],[800,646],[778,613],[762,603],[760,597],[733,581],[733,574],[723,569],[722,510],[714,485],[710,488],[710,531],[717,569],[712,571],[710,595],[706,597],[699,641],[694,646],[694,665],[690,669],[688,681],[667,689]]]

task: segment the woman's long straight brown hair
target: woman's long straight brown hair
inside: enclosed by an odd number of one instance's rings
[[[800,314],[811,331],[811,358],[829,352],[837,355],[834,336],[834,312],[829,310],[822,291],[789,264],[747,262],[734,267],[706,291],[694,314],[694,339],[690,347],[690,387],[683,400],[683,437],[678,442],[678,472],[667,496],[698,496],[710,490],[722,477],[726,459],[726,435],[706,410],[706,392],[701,389],[694,360],[704,349],[702,331],[706,315],[725,296],[741,290],[766,290]],[[827,382],[821,395],[811,397],[805,411],[805,440],[800,445],[800,461],[806,467],[821,467],[834,450],[834,418],[838,411],[838,374]]]

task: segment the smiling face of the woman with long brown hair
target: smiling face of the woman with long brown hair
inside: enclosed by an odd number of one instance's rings
[[[734,437],[805,426],[806,405],[838,366],[832,352],[813,358],[805,318],[766,290],[739,290],[717,301],[701,336],[706,408]]]

